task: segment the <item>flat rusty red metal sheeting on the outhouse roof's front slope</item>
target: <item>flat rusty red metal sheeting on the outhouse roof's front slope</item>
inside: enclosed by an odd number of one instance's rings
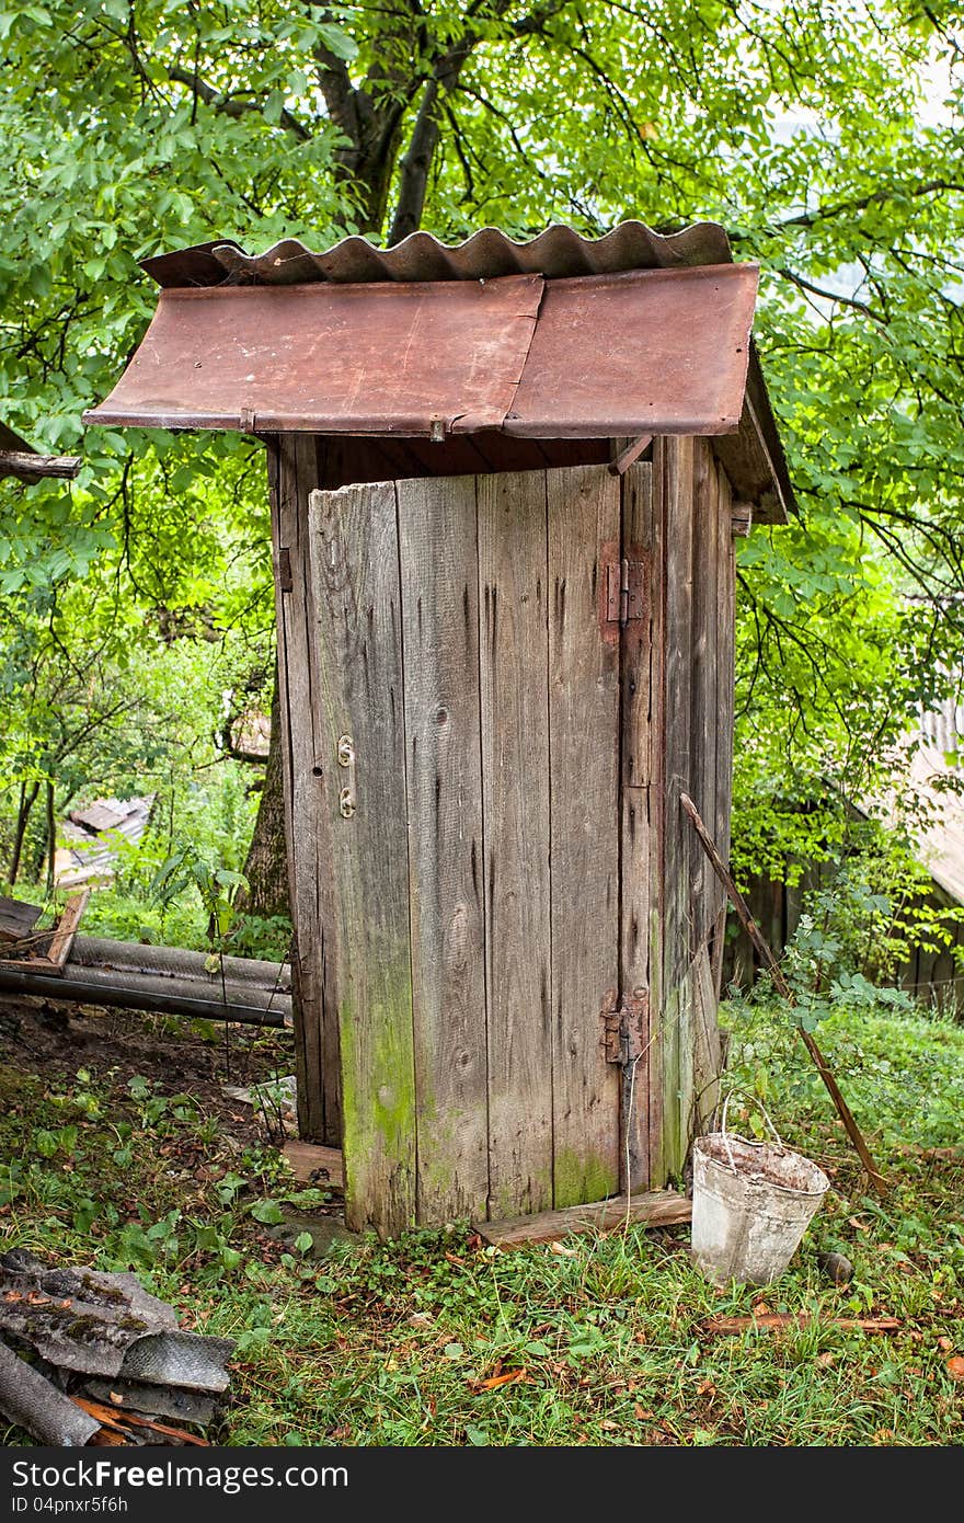
[[[244,433],[722,434],[755,265],[161,292],[96,422]]]

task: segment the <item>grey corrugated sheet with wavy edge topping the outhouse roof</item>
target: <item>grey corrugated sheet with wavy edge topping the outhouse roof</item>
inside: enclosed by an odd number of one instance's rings
[[[492,280],[513,274],[560,280],[626,270],[728,263],[733,263],[733,250],[719,222],[693,222],[678,233],[656,233],[644,222],[627,221],[602,238],[583,238],[571,227],[554,224],[527,242],[515,242],[496,227],[483,227],[463,244],[442,244],[431,233],[410,233],[391,248],[376,248],[367,238],[353,235],[321,253],[297,238],[283,238],[262,254],[245,253],[233,239],[215,239],[143,259],[140,268],[169,288]]]

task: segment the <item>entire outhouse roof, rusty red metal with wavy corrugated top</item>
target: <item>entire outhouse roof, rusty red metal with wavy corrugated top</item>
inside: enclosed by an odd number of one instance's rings
[[[722,227],[602,239],[483,228],[457,248],[286,239],[145,260],[151,327],[85,419],[247,433],[533,439],[710,434],[739,495],[781,519],[793,495],[752,353],[755,265]],[[723,454],[725,449],[725,454]]]

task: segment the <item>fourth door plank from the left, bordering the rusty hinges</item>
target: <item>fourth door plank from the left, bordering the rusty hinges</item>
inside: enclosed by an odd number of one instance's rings
[[[618,556],[620,481],[606,466],[547,472],[553,1001],[553,1203],[618,1188],[618,1069],[600,1010],[618,988],[620,652],[600,632]]]

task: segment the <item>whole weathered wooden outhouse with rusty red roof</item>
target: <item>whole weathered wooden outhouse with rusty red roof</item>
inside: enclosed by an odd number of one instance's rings
[[[268,454],[303,1133],[347,1220],[656,1188],[713,1106],[733,535],[792,503],[722,228],[212,244],[91,422]]]

